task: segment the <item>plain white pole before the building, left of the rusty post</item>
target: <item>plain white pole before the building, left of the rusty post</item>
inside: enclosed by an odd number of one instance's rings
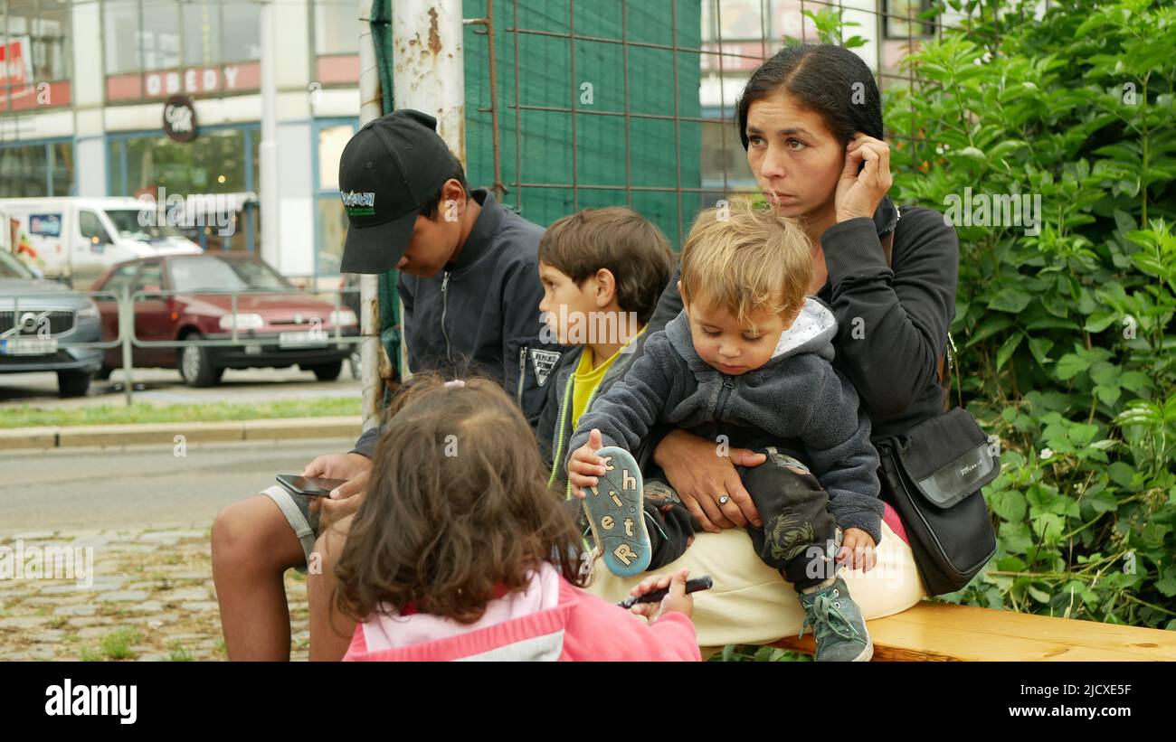
[[[274,43],[274,2],[261,2],[261,258],[282,271],[279,241],[281,217],[278,180],[278,47]]]

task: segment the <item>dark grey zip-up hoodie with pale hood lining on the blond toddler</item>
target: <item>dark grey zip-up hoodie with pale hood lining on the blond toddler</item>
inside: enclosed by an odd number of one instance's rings
[[[861,528],[877,544],[878,456],[857,392],[830,363],[836,332],[833,312],[809,297],[768,363],[729,376],[694,350],[683,311],[646,340],[624,378],[580,418],[563,466],[594,427],[606,446],[629,451],[657,423],[711,440],[726,436],[730,447],[776,446],[809,465],[829,494],[837,525]]]

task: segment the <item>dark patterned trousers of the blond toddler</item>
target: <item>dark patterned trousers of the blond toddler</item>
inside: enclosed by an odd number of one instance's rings
[[[834,556],[840,539],[837,521],[828,510],[829,495],[801,461],[775,448],[761,453],[768,459],[760,466],[739,467],[743,487],[763,521],[763,528],[747,527],[756,554],[763,564],[779,569],[796,592],[820,585],[837,569]],[[675,507],[663,506],[663,488],[669,490],[669,485],[657,479],[646,481],[646,517],[654,520],[647,524],[654,547],[650,571],[681,556],[688,538],[699,529],[676,494],[671,498]],[[680,517],[677,508],[686,512],[688,520]]]

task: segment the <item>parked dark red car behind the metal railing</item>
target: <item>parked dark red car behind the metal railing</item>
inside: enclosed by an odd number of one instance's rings
[[[135,366],[179,369],[185,383],[209,386],[225,369],[286,367],[298,364],[321,380],[339,377],[354,345],[334,342],[359,335],[355,312],[336,310],[334,297],[275,294],[298,289],[261,259],[247,254],[205,252],[147,257],[113,265],[94,283],[95,291],[145,291],[134,302],[139,340],[230,339],[233,346],[132,349]],[[215,292],[221,294],[215,294]],[[232,296],[236,294],[236,315]],[[328,301],[328,297],[330,301]],[[119,310],[113,299],[95,297],[103,339],[119,336]],[[99,378],[122,367],[122,348],[106,352]]]

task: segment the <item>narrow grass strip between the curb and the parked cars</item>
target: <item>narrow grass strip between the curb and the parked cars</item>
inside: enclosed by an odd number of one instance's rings
[[[4,427],[46,425],[119,425],[131,423],[211,423],[223,420],[272,420],[296,417],[361,414],[362,400],[353,397],[281,399],[263,403],[216,403],[199,405],[98,405],[93,407],[41,409],[32,405],[5,406]]]

